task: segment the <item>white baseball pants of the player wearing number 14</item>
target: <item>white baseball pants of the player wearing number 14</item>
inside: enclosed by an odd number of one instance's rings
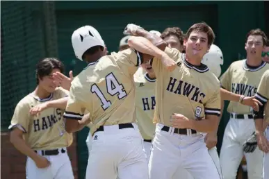
[[[104,126],[92,137],[86,179],[147,179],[147,156],[138,126]]]

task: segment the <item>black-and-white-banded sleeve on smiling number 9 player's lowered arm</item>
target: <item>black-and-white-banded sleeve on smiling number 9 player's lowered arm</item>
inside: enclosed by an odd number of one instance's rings
[[[220,116],[220,88],[216,89],[213,96],[204,105],[204,114]]]

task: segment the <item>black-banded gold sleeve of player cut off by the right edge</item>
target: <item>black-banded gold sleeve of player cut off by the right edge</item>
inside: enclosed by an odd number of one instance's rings
[[[254,119],[263,119],[264,109],[269,100],[269,70],[261,77],[255,99],[259,100],[263,105],[259,105],[259,111],[254,111]]]

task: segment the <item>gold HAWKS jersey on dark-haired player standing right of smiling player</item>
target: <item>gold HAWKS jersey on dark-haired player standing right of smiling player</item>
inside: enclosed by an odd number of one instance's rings
[[[221,86],[229,92],[244,96],[254,96],[263,73],[269,69],[269,64],[262,62],[259,67],[249,67],[247,60],[233,62],[220,77]],[[227,112],[236,114],[252,114],[250,106],[230,101]]]

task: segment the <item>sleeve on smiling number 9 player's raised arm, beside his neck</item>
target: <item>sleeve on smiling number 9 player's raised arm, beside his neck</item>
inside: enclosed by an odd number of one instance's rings
[[[179,54],[180,54],[179,50],[166,47],[165,53],[168,54],[168,56],[170,58],[172,58],[172,60],[174,60],[175,62],[177,62],[179,60]],[[163,63],[158,58],[153,58],[152,60],[150,60],[149,63],[152,66],[152,68],[154,69],[154,72],[155,72],[157,77],[162,73],[162,71],[165,70]]]

